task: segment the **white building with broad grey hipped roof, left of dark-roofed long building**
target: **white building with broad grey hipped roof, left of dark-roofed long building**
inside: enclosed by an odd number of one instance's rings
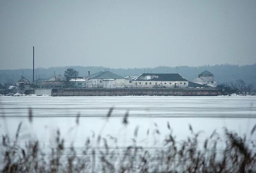
[[[126,79],[112,72],[97,72],[86,77],[87,88],[125,88]]]

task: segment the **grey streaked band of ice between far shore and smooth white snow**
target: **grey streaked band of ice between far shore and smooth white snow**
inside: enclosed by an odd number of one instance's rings
[[[26,117],[33,108],[36,117],[122,117],[127,110],[132,117],[254,117],[256,96],[91,96],[0,97],[0,108],[7,117]]]

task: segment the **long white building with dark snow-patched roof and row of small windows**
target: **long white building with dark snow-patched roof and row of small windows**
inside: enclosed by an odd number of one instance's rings
[[[133,81],[133,88],[187,88],[188,80],[178,73],[143,73]]]

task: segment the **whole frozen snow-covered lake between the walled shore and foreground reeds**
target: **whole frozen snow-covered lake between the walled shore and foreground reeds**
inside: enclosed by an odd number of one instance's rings
[[[114,107],[107,120],[109,108]],[[33,124],[28,122],[28,108],[33,111]],[[122,124],[123,116],[129,112],[127,126]],[[19,122],[22,122],[20,143],[28,138],[37,138],[43,145],[51,141],[60,129],[67,143],[83,146],[86,137],[115,136],[119,145],[131,143],[134,129],[139,127],[138,143],[147,147],[159,147],[156,139],[164,139],[167,122],[177,140],[185,139],[194,131],[203,131],[199,142],[203,142],[213,130],[223,134],[223,127],[239,135],[249,135],[256,124],[256,96],[1,96],[0,132],[14,138]],[[80,114],[79,125],[76,115]],[[157,135],[159,129],[160,135]],[[149,135],[147,136],[147,131]],[[255,140],[249,138],[249,140]]]

